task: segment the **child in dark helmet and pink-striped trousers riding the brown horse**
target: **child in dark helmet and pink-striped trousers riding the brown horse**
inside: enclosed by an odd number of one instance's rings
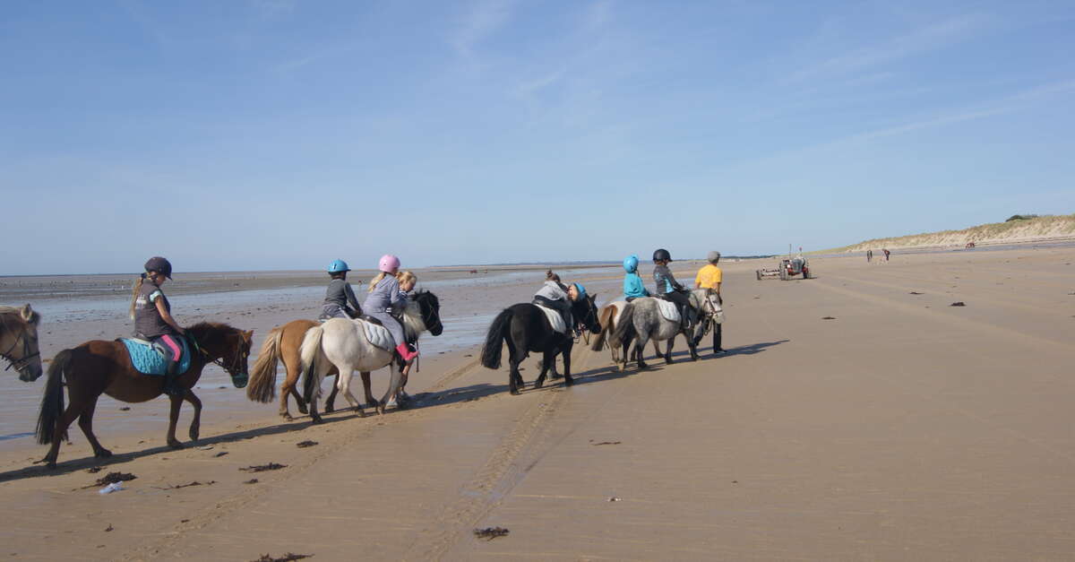
[[[183,360],[183,345],[180,338],[187,333],[172,318],[172,305],[160,290],[172,278],[172,264],[155,256],[145,263],[145,272],[134,282],[131,290],[130,318],[134,321],[134,335],[156,343],[164,353],[164,394],[183,396],[186,389],[175,383],[175,371]],[[146,283],[145,281],[149,281]]]

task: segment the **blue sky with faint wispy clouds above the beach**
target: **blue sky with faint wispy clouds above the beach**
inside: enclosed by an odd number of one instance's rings
[[[758,254],[1072,213],[1072,53],[1069,1],[8,2],[0,275]]]

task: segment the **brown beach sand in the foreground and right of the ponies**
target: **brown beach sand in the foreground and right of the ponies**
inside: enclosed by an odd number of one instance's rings
[[[621,374],[576,348],[575,387],[510,396],[469,350],[426,361],[407,411],[310,426],[263,406],[182,451],[161,423],[101,421],[117,456],[74,430],[51,472],[43,448],[5,449],[0,554],[1071,559],[1075,250],[811,263],[790,282],[725,265],[730,353],[697,363]],[[269,462],[287,466],[240,472]],[[138,479],[82,489],[110,470]]]

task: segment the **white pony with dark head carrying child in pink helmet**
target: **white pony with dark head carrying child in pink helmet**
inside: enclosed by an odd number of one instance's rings
[[[417,340],[422,332],[440,336],[444,332],[441,323],[441,301],[429,291],[416,293],[406,309],[403,310],[403,334],[408,340]],[[362,324],[366,320],[346,320],[334,318],[319,326],[306,331],[299,348],[299,359],[302,373],[305,376],[303,397],[310,408],[310,418],[314,423],[321,423],[317,413],[317,398],[321,391],[321,381],[334,366],[339,370],[336,390],[359,416],[366,416],[362,405],[350,393],[350,377],[355,370],[370,373],[386,367],[395,359],[393,350],[378,348],[366,337]],[[381,402],[374,401],[377,413],[384,413],[388,399],[399,392],[403,385],[403,366],[391,369],[391,380],[388,392]]]

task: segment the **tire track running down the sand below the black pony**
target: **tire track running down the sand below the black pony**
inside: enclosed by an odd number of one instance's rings
[[[585,349],[585,352],[579,357],[572,357],[572,370],[584,371],[593,353],[585,347],[578,349]],[[574,369],[576,364],[580,368]],[[501,503],[531,468],[518,461],[532,448],[535,437],[545,431],[546,420],[556,413],[567,392],[570,390],[551,389],[538,398],[538,404],[527,409],[474,477],[460,488],[459,498],[418,533],[417,542],[407,549],[403,560],[440,560],[468,536],[477,521]]]

